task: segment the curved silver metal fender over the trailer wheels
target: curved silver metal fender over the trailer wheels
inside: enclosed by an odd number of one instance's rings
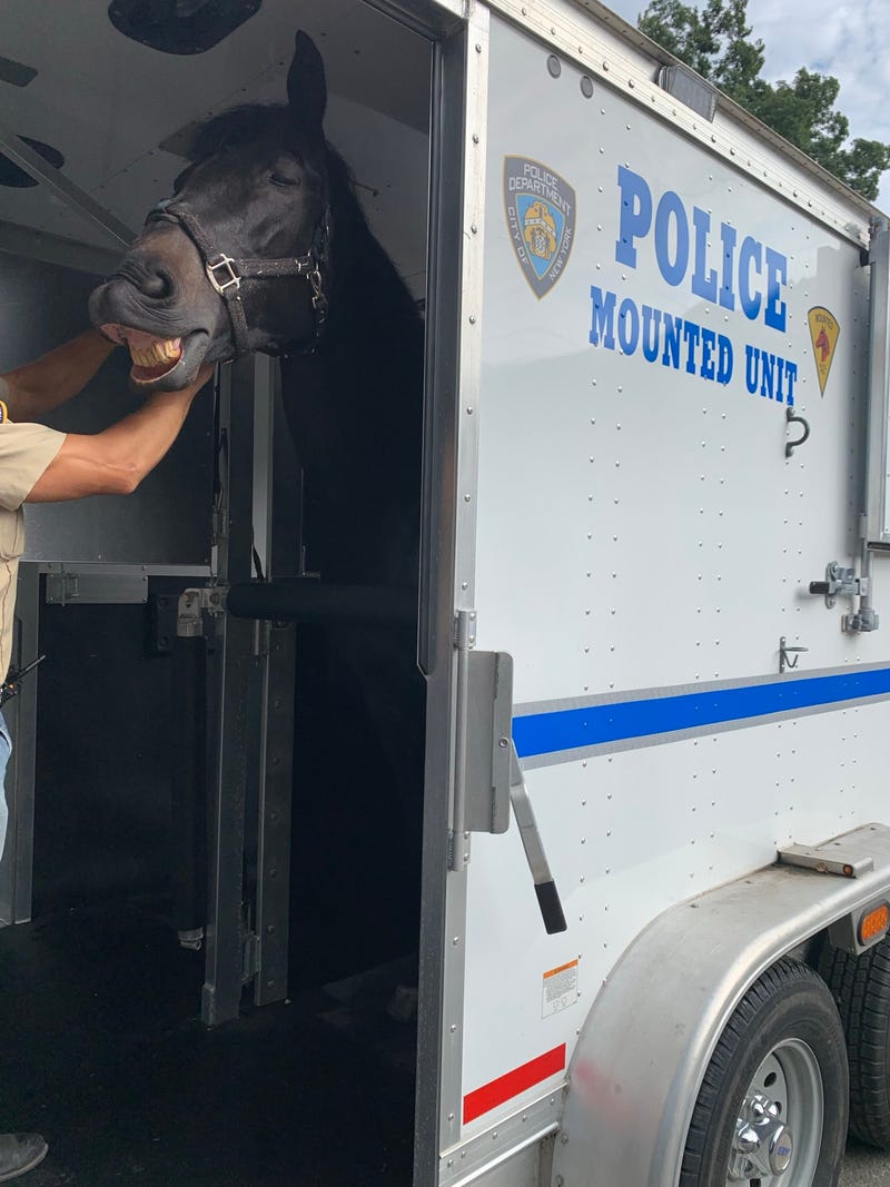
[[[818,853],[816,868],[780,859],[673,907],[632,941],[571,1061],[553,1187],[675,1187],[705,1069],[749,986],[890,888],[885,825],[863,825]],[[854,876],[826,872],[838,862]]]

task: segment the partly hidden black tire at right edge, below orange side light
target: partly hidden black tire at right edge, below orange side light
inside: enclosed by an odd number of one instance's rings
[[[850,1132],[890,1150],[890,939],[860,957],[826,944],[819,967],[846,1033]]]

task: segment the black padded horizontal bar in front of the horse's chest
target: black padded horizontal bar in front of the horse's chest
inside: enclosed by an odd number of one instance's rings
[[[236,618],[271,622],[368,624],[412,623],[414,590],[384,585],[325,585],[311,578],[287,582],[243,582],[230,585],[225,609]]]

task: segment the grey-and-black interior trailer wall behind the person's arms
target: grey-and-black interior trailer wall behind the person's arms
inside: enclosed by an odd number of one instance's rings
[[[88,326],[87,297],[97,279],[66,264],[0,253],[0,370],[82,332]],[[139,398],[127,387],[127,368],[119,351],[50,423],[64,431],[96,432],[138,407]],[[170,660],[158,653],[150,622],[170,579],[153,579],[150,602],[146,566],[174,572],[179,566],[205,570],[209,564],[212,421],[212,396],[206,393],[171,455],[134,495],[26,507],[17,640],[24,630],[28,642],[17,661],[44,652],[47,658],[39,681],[32,679],[20,703],[11,706],[21,745],[8,780],[11,844],[0,867],[1,914],[7,921],[30,914],[21,894],[32,874],[23,868],[30,846],[17,843],[31,833],[32,824],[38,913],[109,894],[145,893],[169,881]],[[46,588],[30,576],[32,570],[53,570],[52,582],[63,569],[76,573],[78,564],[90,566],[100,590],[122,577],[142,601],[89,604],[89,598],[78,597],[83,591],[71,586],[69,604],[45,604]],[[115,594],[102,596],[114,601]],[[172,598],[174,604],[174,592]],[[32,766],[25,732],[38,687]]]

